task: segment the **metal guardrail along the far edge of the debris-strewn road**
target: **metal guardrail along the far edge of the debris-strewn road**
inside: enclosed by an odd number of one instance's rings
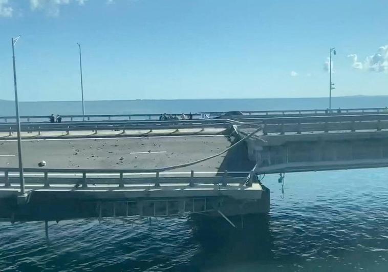
[[[158,129],[190,129],[217,127],[223,128],[229,125],[224,119],[198,119],[178,121],[111,121],[111,122],[62,122],[62,123],[22,123],[21,131],[42,132],[42,131],[82,131],[82,130],[158,130]],[[16,124],[0,124],[0,132],[16,130]]]

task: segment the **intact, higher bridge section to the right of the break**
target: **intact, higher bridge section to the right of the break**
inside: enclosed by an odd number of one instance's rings
[[[388,115],[265,119],[247,140],[256,173],[388,166]],[[241,128],[241,137],[253,129]]]

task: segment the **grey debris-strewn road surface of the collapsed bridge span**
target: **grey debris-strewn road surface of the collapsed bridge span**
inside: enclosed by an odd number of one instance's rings
[[[231,140],[223,135],[23,140],[22,150],[25,168],[37,168],[45,160],[45,167],[52,169],[154,169],[219,153]],[[239,147],[178,171],[246,171],[251,164],[245,157]],[[15,140],[0,140],[0,165],[18,166]]]

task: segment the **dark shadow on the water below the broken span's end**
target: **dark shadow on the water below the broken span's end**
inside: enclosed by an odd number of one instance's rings
[[[273,259],[273,237],[269,215],[233,217],[232,227],[223,218],[192,217],[189,224],[193,239],[201,250],[190,260],[189,271],[202,271],[250,261],[267,262]]]

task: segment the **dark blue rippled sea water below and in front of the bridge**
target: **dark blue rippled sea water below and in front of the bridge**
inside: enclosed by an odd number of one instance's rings
[[[4,271],[386,271],[388,169],[276,176],[269,215],[188,218],[127,224],[120,220],[0,224]],[[239,222],[236,222],[239,225]]]

